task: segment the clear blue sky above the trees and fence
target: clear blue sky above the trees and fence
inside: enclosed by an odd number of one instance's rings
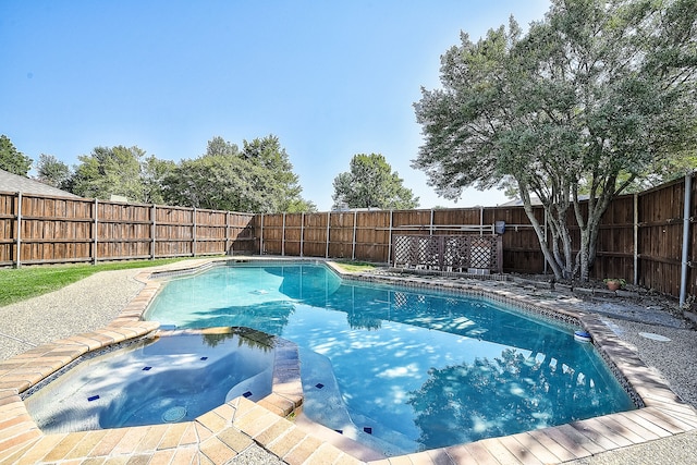
[[[0,134],[68,164],[98,146],[197,158],[215,136],[274,134],[303,197],[331,207],[356,154],[382,154],[421,208],[442,199],[411,168],[413,103],[439,87],[440,56],[548,0],[0,0]],[[1,188],[0,188],[1,189]]]

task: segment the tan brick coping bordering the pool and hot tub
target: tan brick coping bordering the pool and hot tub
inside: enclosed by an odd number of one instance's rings
[[[259,258],[248,258],[255,259]],[[206,260],[204,268],[213,261],[218,260]],[[28,415],[20,396],[22,392],[87,352],[142,338],[158,329],[157,322],[140,320],[160,287],[160,282],[150,279],[154,271],[144,271],[136,279],[144,282],[145,287],[107,327],[34,347],[0,363],[0,464],[224,464],[255,442],[291,465],[357,464],[364,461],[372,465],[549,464],[697,430],[695,408],[683,403],[665,380],[646,367],[636,352],[596,315],[578,311],[571,299],[526,295],[503,282],[484,286],[480,282],[457,278],[354,274],[341,271],[331,262],[329,265],[347,279],[448,289],[577,322],[592,334],[594,344],[640,408],[375,460],[365,448],[328,428],[307,419],[297,424],[293,421],[302,411],[303,392],[297,350],[293,353],[292,345],[289,345],[277,352],[272,393],[257,403],[237,397],[193,421],[181,424],[42,433]],[[180,262],[168,267],[166,272],[185,272],[191,268],[191,262]]]

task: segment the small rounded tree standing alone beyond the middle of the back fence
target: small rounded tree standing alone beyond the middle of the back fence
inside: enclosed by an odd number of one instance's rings
[[[403,180],[380,154],[358,154],[351,159],[350,171],[334,178],[334,206],[350,208],[409,209],[418,207],[418,197],[402,185]]]

